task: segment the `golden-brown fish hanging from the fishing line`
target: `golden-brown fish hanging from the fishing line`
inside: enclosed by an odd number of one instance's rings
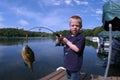
[[[22,58],[24,60],[25,65],[33,72],[33,62],[35,61],[35,55],[32,49],[26,44],[22,48]]]

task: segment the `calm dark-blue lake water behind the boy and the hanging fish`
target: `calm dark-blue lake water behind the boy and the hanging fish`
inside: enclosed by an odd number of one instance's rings
[[[31,71],[22,57],[25,45],[25,38],[0,39],[0,80],[37,80],[63,66],[63,47],[56,47],[54,39],[29,38],[28,46],[35,56]],[[93,45],[85,46],[81,72],[104,75],[103,60],[98,57]]]

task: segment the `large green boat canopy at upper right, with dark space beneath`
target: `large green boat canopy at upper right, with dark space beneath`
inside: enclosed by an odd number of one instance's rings
[[[109,30],[108,25],[111,23],[113,31],[120,31],[120,1],[109,0],[103,5],[102,22],[105,30]]]

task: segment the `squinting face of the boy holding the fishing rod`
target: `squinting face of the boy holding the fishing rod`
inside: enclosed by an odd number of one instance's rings
[[[80,28],[81,28],[81,24],[79,23],[79,20],[71,19],[70,30],[71,30],[72,34],[77,35],[79,33]]]

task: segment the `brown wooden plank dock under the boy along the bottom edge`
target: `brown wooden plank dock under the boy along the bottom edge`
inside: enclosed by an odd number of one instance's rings
[[[60,69],[58,71],[52,72],[51,74],[39,80],[66,80],[65,74],[66,74],[65,70]],[[111,76],[104,79],[104,77],[102,76],[81,73],[81,80],[120,80],[120,77]]]

